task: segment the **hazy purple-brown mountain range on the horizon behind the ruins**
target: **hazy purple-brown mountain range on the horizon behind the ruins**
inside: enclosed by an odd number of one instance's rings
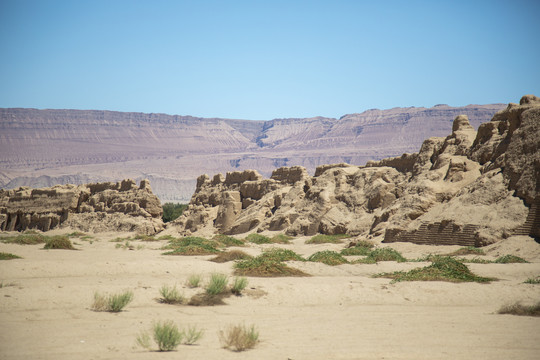
[[[0,187],[147,178],[162,202],[188,202],[195,179],[227,171],[417,152],[465,114],[477,128],[504,104],[372,109],[339,119],[270,121],[99,110],[0,108]]]

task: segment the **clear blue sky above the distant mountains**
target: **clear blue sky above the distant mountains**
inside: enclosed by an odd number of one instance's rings
[[[540,1],[0,0],[0,107],[268,120],[540,96]]]

